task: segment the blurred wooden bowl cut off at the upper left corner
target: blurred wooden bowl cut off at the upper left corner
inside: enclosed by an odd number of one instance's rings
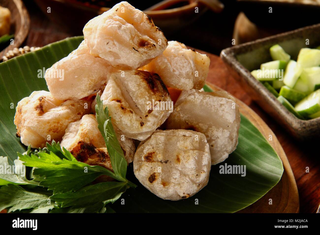
[[[13,28],[12,32],[14,32],[14,44],[7,46],[0,52],[0,58],[2,58],[5,53],[13,48],[19,48],[26,39],[30,28],[30,18],[21,0],[0,0],[0,5],[10,10],[11,28]]]

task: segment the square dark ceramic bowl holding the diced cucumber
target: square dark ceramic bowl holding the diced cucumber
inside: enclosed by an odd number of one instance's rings
[[[306,42],[309,42],[309,45],[306,45]],[[269,48],[275,44],[282,46],[292,59],[297,60],[301,48],[315,48],[320,45],[320,24],[236,45],[221,51],[220,57],[252,99],[292,136],[299,140],[320,137],[320,117],[311,120],[297,118],[250,73],[259,69],[262,63],[272,60]]]

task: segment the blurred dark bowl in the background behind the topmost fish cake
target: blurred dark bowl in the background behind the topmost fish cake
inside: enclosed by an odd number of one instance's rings
[[[110,9],[76,0],[35,0],[35,2],[50,20],[79,35],[82,34],[82,29],[89,20]],[[121,1],[107,2],[109,7],[112,7]],[[165,0],[160,3],[155,0],[147,3],[129,0],[128,2],[148,14],[166,35],[192,23],[209,8],[215,12],[221,12],[223,9],[223,4],[218,0]],[[151,4],[154,5],[150,6]],[[144,6],[146,10],[141,9]],[[47,13],[48,7],[51,8],[51,13]],[[198,7],[198,13],[195,13],[196,7]]]

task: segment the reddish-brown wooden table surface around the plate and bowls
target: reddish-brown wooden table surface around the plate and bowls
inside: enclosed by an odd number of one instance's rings
[[[44,46],[69,36],[76,36],[72,33],[61,31],[60,27],[50,22],[39,9],[35,8],[35,5],[27,3],[26,5],[30,13],[31,26],[24,45],[30,47]],[[208,54],[211,59],[210,75],[207,81],[212,82],[223,90],[227,90],[250,106],[276,134],[287,155],[297,182],[300,196],[300,212],[316,213],[320,203],[319,140],[314,143],[301,143],[293,139],[275,120],[252,101],[240,84],[230,75],[219,56],[207,52],[202,53]],[[306,167],[309,167],[309,173],[306,173]]]

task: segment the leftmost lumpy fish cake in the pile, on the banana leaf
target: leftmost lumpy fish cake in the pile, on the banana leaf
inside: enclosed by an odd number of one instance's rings
[[[14,124],[21,143],[31,148],[43,148],[46,142],[60,141],[68,124],[91,111],[84,100],[58,100],[48,91],[34,91],[18,102]]]

